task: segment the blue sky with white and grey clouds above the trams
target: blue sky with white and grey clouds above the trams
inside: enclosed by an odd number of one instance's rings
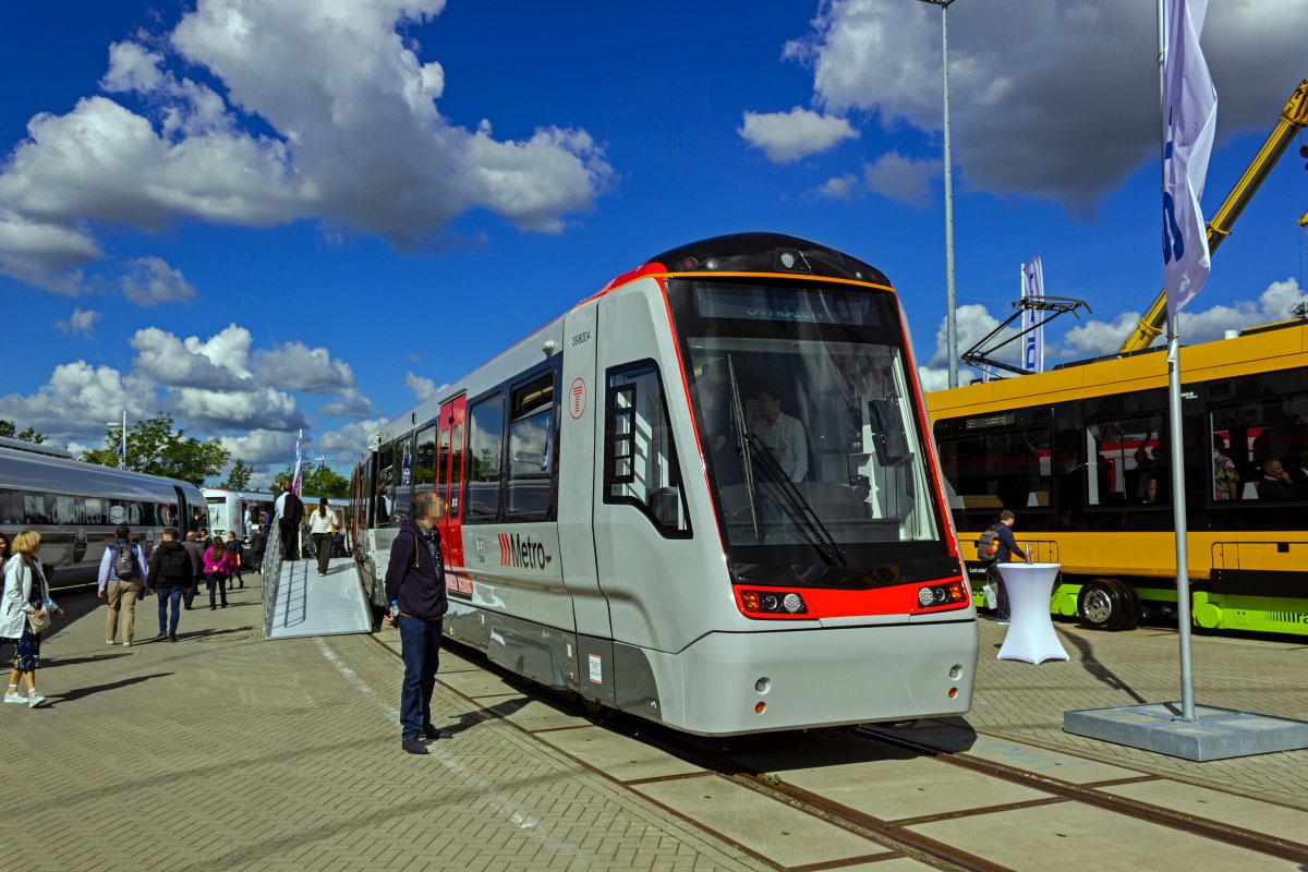
[[[1152,4],[957,0],[960,348],[1046,293],[1112,352],[1162,285]],[[900,290],[942,387],[940,14],[914,0],[203,0],[0,10],[0,417],[171,413],[263,473],[366,434],[670,247],[772,230]],[[1308,0],[1214,3],[1211,212],[1308,75]],[[1281,161],[1188,341],[1300,298]],[[964,370],[964,377],[969,373]]]

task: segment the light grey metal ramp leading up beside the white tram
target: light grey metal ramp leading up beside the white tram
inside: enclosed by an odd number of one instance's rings
[[[271,561],[269,561],[271,562]],[[264,634],[268,639],[370,633],[373,612],[353,558],[337,557],[327,574],[318,561],[281,562],[275,586],[264,584]]]

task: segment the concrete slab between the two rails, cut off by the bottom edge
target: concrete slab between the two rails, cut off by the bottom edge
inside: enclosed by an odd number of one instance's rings
[[[948,842],[1015,872],[1185,869],[1185,872],[1300,872],[1270,858],[1201,835],[1168,830],[1076,803],[918,824],[910,830]]]

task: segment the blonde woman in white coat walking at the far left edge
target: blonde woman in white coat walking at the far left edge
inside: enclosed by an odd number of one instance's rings
[[[29,614],[43,616],[51,603],[46,573],[37,558],[41,550],[41,533],[25,529],[13,537],[13,557],[4,569],[4,599],[0,599],[0,639],[16,643],[13,669],[9,672],[9,686],[4,701],[27,703],[35,709],[46,701],[37,693],[37,667],[41,663],[41,635],[31,631]],[[63,617],[64,611],[55,608],[55,614]],[[27,696],[18,693],[18,680],[27,685]]]

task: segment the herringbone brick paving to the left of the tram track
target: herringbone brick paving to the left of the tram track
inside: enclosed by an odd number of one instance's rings
[[[263,642],[258,596],[129,648],[98,601],[65,603],[50,706],[0,706],[4,868],[765,868],[445,690],[455,736],[402,753],[399,662],[366,637]]]

